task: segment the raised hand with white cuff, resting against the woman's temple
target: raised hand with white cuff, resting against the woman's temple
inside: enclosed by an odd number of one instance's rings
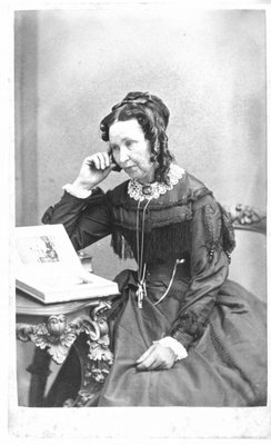
[[[83,190],[97,187],[116,167],[107,151],[88,156],[81,166],[80,172],[73,185]]]

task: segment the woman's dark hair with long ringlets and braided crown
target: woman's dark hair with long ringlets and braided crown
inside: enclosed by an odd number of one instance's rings
[[[145,139],[151,144],[151,159],[152,161],[158,161],[155,180],[167,182],[170,164],[174,159],[168,149],[168,136],[165,132],[169,116],[169,109],[159,97],[148,92],[129,92],[102,119],[100,123],[101,138],[104,141],[109,140],[110,126],[116,121],[137,119]]]

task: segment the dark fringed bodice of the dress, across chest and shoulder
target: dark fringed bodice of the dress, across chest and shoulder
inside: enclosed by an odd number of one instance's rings
[[[215,202],[212,191],[192,175],[184,172],[172,189],[150,202],[129,196],[128,187],[129,181],[126,181],[107,194],[111,209],[112,247],[120,258],[137,259],[137,231],[141,230],[142,225],[147,263],[188,258],[193,216],[203,208],[205,211],[202,211],[201,224],[205,226],[205,239],[202,243],[207,240],[211,249],[218,243],[213,237],[221,237],[223,222],[221,243],[224,250],[232,250],[233,231],[230,224],[227,224],[225,212]],[[219,234],[215,234],[218,230]]]

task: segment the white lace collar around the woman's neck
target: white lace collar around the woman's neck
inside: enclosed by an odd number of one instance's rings
[[[130,179],[128,184],[128,195],[137,201],[158,199],[160,195],[164,195],[168,190],[172,190],[173,186],[179,182],[183,174],[184,170],[181,167],[171,164],[168,172],[168,184],[158,181],[152,184],[141,184],[137,179]]]

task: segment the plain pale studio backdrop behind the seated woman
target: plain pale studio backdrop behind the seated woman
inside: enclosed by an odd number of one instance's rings
[[[100,120],[128,91],[164,100],[178,164],[225,206],[265,210],[267,73],[263,10],[103,4],[14,13],[16,219],[41,224],[82,159],[106,150]],[[113,172],[107,190],[127,179]],[[265,238],[241,233],[230,277],[265,299]],[[90,247],[113,278],[110,239]]]

